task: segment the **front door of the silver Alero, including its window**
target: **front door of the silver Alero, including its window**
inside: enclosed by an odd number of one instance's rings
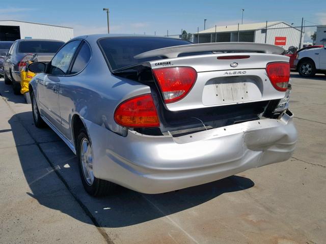
[[[61,131],[59,86],[61,80],[67,74],[72,57],[80,42],[80,40],[74,40],[65,44],[57,54],[53,56],[49,63],[47,73],[38,81],[39,102],[42,104],[44,116],[59,131]]]

